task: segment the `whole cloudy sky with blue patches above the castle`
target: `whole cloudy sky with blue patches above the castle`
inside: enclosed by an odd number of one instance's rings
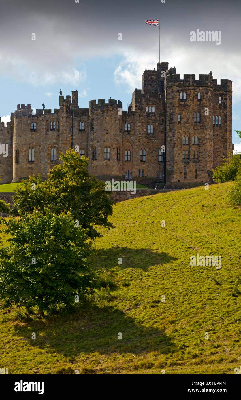
[[[183,74],[233,81],[233,143],[241,130],[240,0],[1,0],[0,116],[17,104],[59,108],[59,90],[79,91],[79,107],[112,97],[126,110],[145,69],[160,60]],[[191,42],[190,32],[221,32],[221,44]],[[34,38],[35,40],[32,40]],[[122,34],[122,40],[118,40]],[[220,34],[219,34],[220,35]]]

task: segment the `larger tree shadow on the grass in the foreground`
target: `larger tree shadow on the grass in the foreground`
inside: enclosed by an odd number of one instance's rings
[[[14,330],[31,346],[73,358],[89,352],[142,354],[158,350],[167,354],[175,350],[170,336],[162,330],[138,324],[112,306],[87,306],[61,320],[28,321],[15,325]],[[36,333],[35,340],[31,339],[32,332]],[[118,339],[120,332],[122,340]]]

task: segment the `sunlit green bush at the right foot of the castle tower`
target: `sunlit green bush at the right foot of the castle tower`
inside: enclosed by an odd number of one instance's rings
[[[235,180],[241,166],[241,154],[229,154],[224,163],[213,170],[213,180],[219,183]]]

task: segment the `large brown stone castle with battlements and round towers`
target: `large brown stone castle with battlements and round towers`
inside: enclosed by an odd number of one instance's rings
[[[1,184],[20,182],[59,163],[73,148],[89,158],[89,172],[101,180],[127,179],[149,187],[190,187],[213,182],[212,170],[232,152],[232,81],[176,74],[168,62],[145,70],[127,111],[109,98],[79,108],[78,92],[59,96],[59,108],[36,110],[18,104],[0,122]]]

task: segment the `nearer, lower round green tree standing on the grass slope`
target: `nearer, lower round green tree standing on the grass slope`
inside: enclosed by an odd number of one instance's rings
[[[44,310],[74,304],[75,295],[92,292],[95,274],[86,258],[91,253],[85,230],[71,212],[34,210],[20,219],[1,218],[10,245],[0,248],[0,298],[4,306],[20,304]]]

